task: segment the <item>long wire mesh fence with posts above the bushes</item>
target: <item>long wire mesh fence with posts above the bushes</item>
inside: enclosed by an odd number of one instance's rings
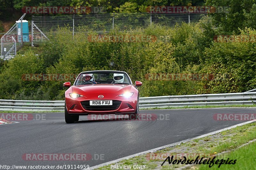
[[[165,26],[175,26],[176,23],[194,22],[204,14],[198,13],[108,13],[94,15],[68,15],[68,16],[33,16],[32,17],[32,45],[44,41],[50,33],[58,27],[70,26],[73,35],[81,28],[101,33],[112,29],[120,31],[136,30],[157,23]],[[44,33],[44,34],[43,34]]]

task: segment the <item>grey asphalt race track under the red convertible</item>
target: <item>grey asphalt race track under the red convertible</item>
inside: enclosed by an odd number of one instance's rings
[[[88,121],[80,116],[73,124],[65,123],[64,113],[40,113],[40,120],[0,125],[0,165],[94,166],[245,122],[217,121],[217,113],[255,113],[255,108],[141,110],[149,119]],[[22,155],[27,153],[87,153],[92,159],[26,160]]]

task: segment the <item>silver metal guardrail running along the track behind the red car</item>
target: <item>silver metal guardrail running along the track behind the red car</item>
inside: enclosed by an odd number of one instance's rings
[[[140,97],[140,108],[256,104],[256,92]],[[64,111],[64,101],[0,100],[4,111]]]

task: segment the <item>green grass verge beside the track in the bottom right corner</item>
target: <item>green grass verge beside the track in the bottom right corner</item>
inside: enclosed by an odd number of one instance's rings
[[[213,158],[216,154],[222,152],[230,152],[230,154],[220,154],[217,159],[237,159],[235,165],[223,164],[218,168],[218,165],[213,165],[211,169],[252,169],[255,167],[255,150],[256,144],[252,143],[247,146],[241,147],[236,150],[242,144],[246,144],[256,138],[256,122],[252,122],[243,126],[238,126],[233,129],[229,129],[215,135],[195,139],[174,147],[165,148],[163,150],[148,153],[145,155],[137,156],[134,158],[126,159],[117,162],[112,165],[146,165],[146,169],[175,169],[177,167],[187,166],[185,164],[169,164],[168,160],[161,164],[164,160],[170,156],[174,156],[174,159],[184,159],[183,156],[187,157],[187,160],[196,159],[197,156],[200,158]],[[253,149],[253,150],[252,150]],[[199,158],[199,159],[200,159]],[[173,159],[173,160],[174,160]],[[253,161],[254,160],[254,161]],[[110,169],[111,165],[100,167],[99,169]],[[246,168],[247,167],[247,168]],[[209,169],[208,165],[191,165],[188,169]],[[131,168],[133,169],[133,168]]]

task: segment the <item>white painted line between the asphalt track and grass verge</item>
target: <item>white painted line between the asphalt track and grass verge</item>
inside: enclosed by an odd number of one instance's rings
[[[202,138],[202,137],[207,137],[207,136],[210,136],[210,135],[214,135],[214,134],[220,133],[222,131],[225,131],[225,130],[228,130],[228,129],[232,129],[232,128],[236,128],[237,126],[243,126],[245,124],[252,123],[252,122],[256,122],[256,120],[239,123],[239,124],[236,124],[236,125],[224,128],[224,129],[220,129],[220,130],[216,130],[214,132],[206,133],[204,135],[200,135],[200,136],[193,137],[193,138],[190,138],[190,139],[182,140],[180,142],[176,142],[176,143],[173,143],[173,144],[168,144],[168,145],[161,146],[161,147],[158,147],[158,148],[154,148],[154,149],[151,149],[151,150],[148,150],[148,151],[144,151],[144,152],[136,153],[136,154],[129,155],[129,156],[126,156],[126,157],[123,157],[123,158],[115,159],[115,160],[112,160],[112,161],[109,161],[109,162],[102,163],[100,165],[92,166],[89,169],[100,168],[102,166],[107,166],[109,164],[114,164],[114,163],[119,162],[119,161],[124,160],[124,159],[130,159],[130,158],[133,158],[133,157],[136,157],[136,156],[140,156],[140,155],[144,155],[144,154],[147,154],[147,153],[156,152],[156,151],[162,150],[164,148],[173,147],[173,146],[176,146],[176,145],[179,145],[181,143],[185,143],[185,142],[188,142],[188,141],[191,141],[191,140],[194,140],[194,139],[199,139],[199,138]],[[82,170],[87,170],[87,169],[82,169]]]

